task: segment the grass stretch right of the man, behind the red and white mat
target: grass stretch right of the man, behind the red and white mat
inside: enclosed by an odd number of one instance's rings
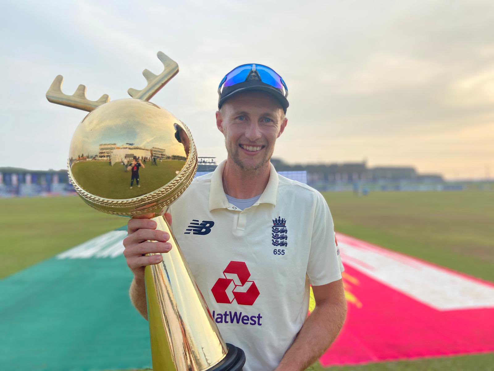
[[[336,231],[494,282],[494,192],[324,196]]]

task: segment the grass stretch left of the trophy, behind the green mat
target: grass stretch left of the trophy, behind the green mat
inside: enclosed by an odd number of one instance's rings
[[[0,199],[0,210],[0,278],[127,223],[78,196]]]

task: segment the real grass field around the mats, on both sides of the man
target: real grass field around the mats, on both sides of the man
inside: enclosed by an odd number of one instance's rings
[[[365,197],[325,193],[325,197],[338,232],[494,281],[494,193],[374,192]],[[0,277],[127,221],[95,211],[79,197],[0,199],[0,209]],[[494,370],[494,354],[329,369],[315,365],[310,370],[489,371]]]

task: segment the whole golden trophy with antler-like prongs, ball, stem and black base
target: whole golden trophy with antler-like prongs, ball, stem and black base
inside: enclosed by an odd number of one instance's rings
[[[65,95],[61,75],[46,98],[89,112],[72,137],[68,161],[69,177],[82,199],[113,215],[156,213],[157,229],[170,235],[173,248],[162,254],[162,263],[145,271],[153,370],[240,371],[244,352],[223,341],[161,215],[192,182],[197,152],[187,126],[149,102],[178,73],[175,61],[161,51],[158,58],[165,70],[160,75],[144,70],[148,85],[140,91],[129,89],[132,98],[110,102],[104,94],[90,101],[84,85]]]

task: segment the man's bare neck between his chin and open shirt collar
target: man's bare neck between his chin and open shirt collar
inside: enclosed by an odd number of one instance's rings
[[[223,169],[223,189],[232,197],[247,199],[261,194],[269,182],[270,162],[255,172],[246,172],[228,159]]]

